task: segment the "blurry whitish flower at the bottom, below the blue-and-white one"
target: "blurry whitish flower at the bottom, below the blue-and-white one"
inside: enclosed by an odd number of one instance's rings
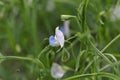
[[[52,67],[51,67],[51,76],[53,78],[62,78],[64,75],[65,71],[63,70],[63,68],[57,64],[57,63],[53,63]]]

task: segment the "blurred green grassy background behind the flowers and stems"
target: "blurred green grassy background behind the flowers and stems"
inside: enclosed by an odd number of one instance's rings
[[[54,35],[57,26],[63,25],[60,16],[63,14],[76,16],[81,1],[0,0],[0,53],[5,56],[37,57],[49,44],[45,39]],[[118,0],[89,0],[85,14],[86,26],[99,50],[120,34],[120,20],[112,21],[110,18],[110,8],[114,8],[117,3]],[[80,32],[79,27],[81,26],[76,20],[71,19],[71,36]],[[73,48],[76,54],[80,49],[78,47],[81,46],[78,44],[79,41]],[[112,44],[106,52],[112,53],[120,60],[120,40]],[[87,56],[85,55],[84,58],[90,59]],[[42,56],[42,61],[47,65],[44,59],[46,56]],[[81,59],[82,61],[84,59]],[[68,61],[68,66],[73,67],[73,63]],[[84,66],[81,65],[80,68],[83,69]],[[47,73],[29,61],[7,60],[0,64],[0,80],[37,80],[38,77],[40,80],[48,80],[48,78],[53,80],[49,67],[46,67],[46,71]]]

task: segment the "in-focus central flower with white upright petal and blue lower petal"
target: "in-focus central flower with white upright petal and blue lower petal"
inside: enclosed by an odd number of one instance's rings
[[[59,27],[55,29],[55,36],[49,37],[49,44],[53,47],[60,45],[62,48],[64,46],[64,35]]]

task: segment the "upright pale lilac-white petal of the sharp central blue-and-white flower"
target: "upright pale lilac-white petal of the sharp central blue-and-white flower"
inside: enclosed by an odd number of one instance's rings
[[[56,40],[60,43],[60,46],[62,48],[64,46],[64,35],[59,30],[59,27],[57,27],[56,30],[55,30],[55,37],[56,37]]]

